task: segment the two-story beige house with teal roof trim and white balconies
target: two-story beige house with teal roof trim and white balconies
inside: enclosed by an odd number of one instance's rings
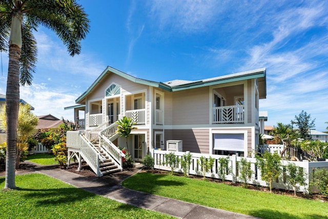
[[[76,99],[79,105],[65,109],[74,109],[75,118],[78,111],[85,111],[86,131],[102,124],[97,130],[105,129],[122,116],[133,118],[137,129],[132,130],[128,145],[136,161],[154,148],[166,150],[168,140],[182,141],[182,151],[248,156],[258,145],[259,99],[266,97],[265,78],[262,68],[162,83],[107,67]],[[126,146],[125,138],[117,134],[109,138],[117,147]]]

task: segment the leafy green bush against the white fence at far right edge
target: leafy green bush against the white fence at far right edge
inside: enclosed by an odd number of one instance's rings
[[[310,187],[314,186],[319,189],[320,194],[328,195],[328,170],[325,168],[317,168],[313,170]]]

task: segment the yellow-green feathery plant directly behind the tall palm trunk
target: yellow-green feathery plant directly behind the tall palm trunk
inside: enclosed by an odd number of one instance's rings
[[[17,148],[16,148],[16,169],[19,167],[19,160],[25,150],[28,149],[28,138],[35,133],[38,124],[38,117],[31,112],[28,104],[19,104],[17,122]],[[6,107],[0,107],[0,129],[6,130]]]

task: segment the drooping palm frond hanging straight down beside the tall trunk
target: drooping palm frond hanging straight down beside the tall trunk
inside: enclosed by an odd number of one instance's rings
[[[37,61],[36,40],[32,33],[31,26],[23,23],[22,26],[22,54],[20,55],[20,75],[19,82],[23,86],[32,84],[33,73],[35,72],[35,64]]]

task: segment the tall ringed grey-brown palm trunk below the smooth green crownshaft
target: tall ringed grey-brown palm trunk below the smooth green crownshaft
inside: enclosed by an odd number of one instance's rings
[[[9,67],[6,92],[7,155],[5,189],[14,189],[17,147],[17,120],[19,109],[19,57],[16,45],[9,46]]]

